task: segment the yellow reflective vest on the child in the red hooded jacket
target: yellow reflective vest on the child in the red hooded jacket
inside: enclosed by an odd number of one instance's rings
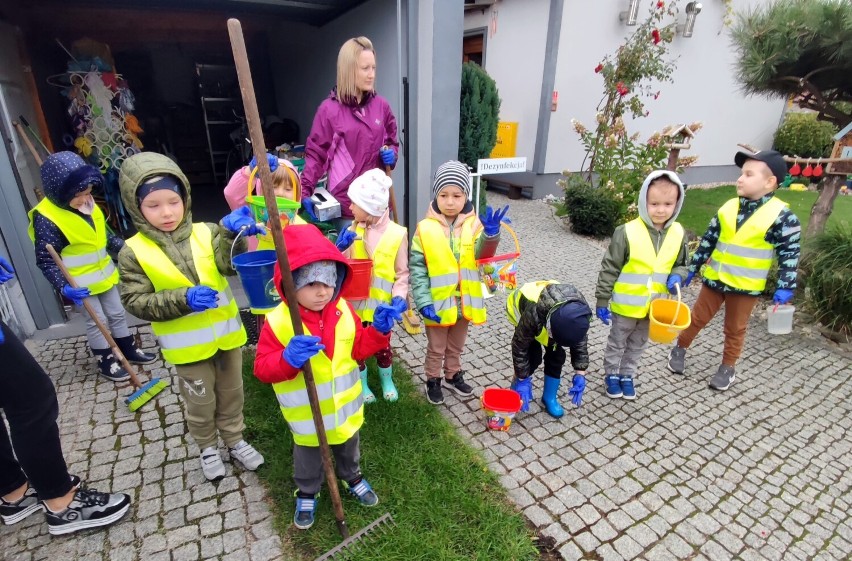
[[[356,316],[342,298],[337,301],[337,312],[340,317],[334,331],[334,357],[329,359],[320,351],[311,358],[311,371],[329,444],[343,444],[364,424],[361,376],[358,363],[352,358]],[[278,341],[286,346],[293,338],[293,322],[287,304],[279,304],[266,316],[266,321]],[[305,335],[311,335],[304,324],[302,329]],[[301,446],[319,446],[304,375],[276,382],[272,388],[293,433],[293,441]]]

